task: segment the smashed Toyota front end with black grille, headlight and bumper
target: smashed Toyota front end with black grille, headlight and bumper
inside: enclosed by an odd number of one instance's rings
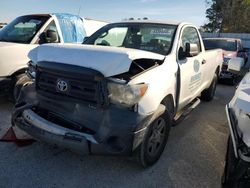
[[[45,61],[36,66],[35,82],[23,87],[12,116],[36,139],[84,154],[130,155],[165,110],[138,114],[148,86],[128,86],[124,76],[107,79],[93,69]]]

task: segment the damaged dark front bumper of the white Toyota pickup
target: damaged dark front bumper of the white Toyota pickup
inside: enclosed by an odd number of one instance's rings
[[[141,116],[116,106],[94,109],[86,104],[40,96],[32,85],[23,88],[17,104],[12,116],[14,125],[38,140],[82,154],[131,155],[142,142],[147,126],[165,111],[160,106],[156,113]],[[61,126],[40,116],[37,109],[63,114],[63,118],[92,131]]]

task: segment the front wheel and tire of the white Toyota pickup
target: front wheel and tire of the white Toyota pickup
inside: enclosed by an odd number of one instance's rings
[[[159,160],[166,146],[170,127],[171,119],[167,111],[148,126],[142,144],[136,151],[137,160],[143,167],[152,166]]]

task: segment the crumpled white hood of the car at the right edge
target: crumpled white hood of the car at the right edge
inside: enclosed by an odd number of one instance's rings
[[[250,147],[250,73],[242,79],[229,107],[238,120],[237,126],[243,135],[243,141]]]

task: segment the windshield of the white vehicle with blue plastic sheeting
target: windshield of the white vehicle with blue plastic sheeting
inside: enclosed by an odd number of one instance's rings
[[[0,41],[28,44],[48,20],[48,16],[21,16],[0,32]]]

